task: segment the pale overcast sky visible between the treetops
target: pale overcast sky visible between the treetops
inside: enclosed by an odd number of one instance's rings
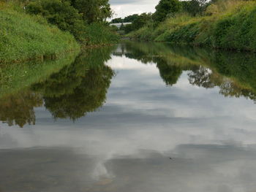
[[[143,12],[154,12],[159,0],[110,0],[115,14],[113,18],[124,18],[127,15]]]

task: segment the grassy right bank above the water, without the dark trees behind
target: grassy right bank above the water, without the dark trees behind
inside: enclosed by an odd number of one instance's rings
[[[157,28],[151,25],[127,36],[147,41],[209,46],[226,50],[256,51],[256,2],[219,1],[205,16],[177,14]]]

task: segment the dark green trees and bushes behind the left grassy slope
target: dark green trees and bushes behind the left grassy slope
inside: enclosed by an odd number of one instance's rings
[[[108,0],[31,0],[26,12],[42,15],[48,23],[69,31],[83,45],[117,40],[106,22],[112,16]]]

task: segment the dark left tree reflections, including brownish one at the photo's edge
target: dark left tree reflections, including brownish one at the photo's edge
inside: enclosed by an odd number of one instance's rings
[[[48,80],[37,82],[31,88],[0,99],[0,120],[9,126],[23,127],[35,124],[34,107],[45,107],[54,118],[77,118],[93,112],[105,102],[112,69],[105,65],[112,47],[88,50],[51,74]]]

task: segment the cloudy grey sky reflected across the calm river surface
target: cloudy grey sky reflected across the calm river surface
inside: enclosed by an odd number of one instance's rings
[[[152,46],[118,45],[105,64],[115,72],[107,100],[96,112],[73,121],[54,119],[52,106],[35,107],[34,126],[2,123],[0,191],[256,191],[252,84],[209,65],[213,75],[200,82],[211,83],[192,85],[200,65],[178,68]],[[182,68],[176,83],[165,74],[174,68]],[[219,93],[227,84],[241,97]]]

